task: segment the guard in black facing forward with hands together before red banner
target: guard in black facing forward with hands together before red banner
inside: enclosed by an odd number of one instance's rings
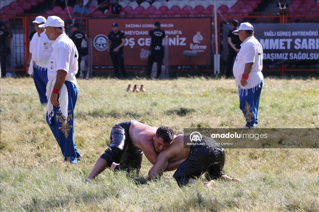
[[[110,42],[112,44],[110,44]],[[120,66],[123,78],[126,78],[125,67],[124,67],[124,56],[123,56],[123,46],[125,44],[125,35],[122,31],[118,30],[118,24],[112,24],[112,31],[108,35],[108,47],[109,53],[114,66],[115,76],[119,78],[119,68]]]

